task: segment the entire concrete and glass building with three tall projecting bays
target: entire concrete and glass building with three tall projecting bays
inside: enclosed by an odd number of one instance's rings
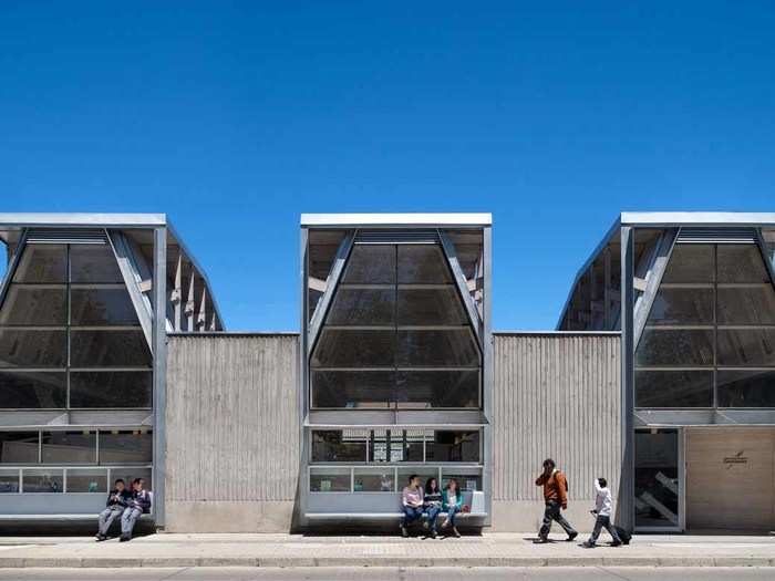
[[[165,216],[0,215],[0,519],[145,474],[165,530],[394,529],[418,474],[535,531],[554,457],[580,530],[598,476],[636,530],[772,527],[775,215],[622,214],[546,332],[493,330],[488,214],[300,227],[300,332],[228,333]]]

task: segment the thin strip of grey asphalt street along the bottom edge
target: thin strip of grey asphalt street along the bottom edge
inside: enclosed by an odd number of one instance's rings
[[[0,580],[18,581],[771,581],[775,568],[169,568],[0,569]]]

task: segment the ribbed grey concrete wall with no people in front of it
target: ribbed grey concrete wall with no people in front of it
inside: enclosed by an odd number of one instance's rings
[[[166,530],[290,530],[298,345],[298,335],[169,336]]]

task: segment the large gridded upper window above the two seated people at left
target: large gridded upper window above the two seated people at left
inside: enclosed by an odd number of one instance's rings
[[[0,304],[0,408],[149,408],[152,393],[110,246],[28,243]]]

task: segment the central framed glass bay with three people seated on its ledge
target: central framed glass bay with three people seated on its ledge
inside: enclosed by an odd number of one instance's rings
[[[302,218],[307,518],[397,512],[411,474],[489,489],[489,225],[397,220]]]

